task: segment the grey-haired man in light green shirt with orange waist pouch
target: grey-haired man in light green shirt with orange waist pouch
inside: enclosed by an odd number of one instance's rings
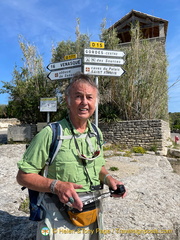
[[[46,193],[42,200],[45,219],[38,224],[37,240],[98,240],[99,231],[96,229],[100,227],[100,221],[96,215],[100,214],[97,212],[99,206],[93,207],[96,212],[91,215],[94,220],[90,221],[89,225],[83,225],[80,221],[82,227],[78,227],[79,225],[74,225],[73,220],[76,222],[79,214],[86,214],[83,201],[98,196],[101,183],[114,190],[122,183],[105,169],[102,133],[98,130],[98,141],[89,121],[98,104],[97,86],[89,76],[79,74],[72,79],[65,95],[69,114],[59,122],[65,139],[49,167],[48,176],[40,174],[48,158],[52,140],[52,131],[46,127],[32,140],[23,159],[18,163],[17,181],[29,189]],[[72,222],[64,218],[60,211],[62,204],[68,205],[69,210],[74,209],[75,214],[78,214],[77,217],[71,216]],[[91,211],[94,209],[87,213],[91,214]],[[70,215],[73,214],[69,212]],[[48,236],[43,236],[41,232],[44,227],[48,227],[50,231]]]

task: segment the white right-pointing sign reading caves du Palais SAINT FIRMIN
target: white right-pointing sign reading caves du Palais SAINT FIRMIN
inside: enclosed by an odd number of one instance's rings
[[[84,74],[120,77],[123,73],[121,67],[84,64]]]

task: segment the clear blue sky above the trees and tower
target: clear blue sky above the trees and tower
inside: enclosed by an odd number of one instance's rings
[[[169,21],[169,112],[180,112],[179,0],[1,0],[0,81],[11,81],[14,66],[23,66],[19,35],[37,46],[46,67],[51,61],[52,45],[75,40],[76,18],[80,18],[81,33],[90,34],[91,41],[99,41],[103,18],[110,27],[132,9]],[[8,95],[1,94],[0,104],[7,103]]]

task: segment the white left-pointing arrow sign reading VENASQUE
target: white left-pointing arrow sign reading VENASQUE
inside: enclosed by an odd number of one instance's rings
[[[50,71],[54,71],[57,69],[64,69],[64,68],[70,68],[70,67],[77,67],[77,66],[81,66],[81,58],[76,58],[76,59],[72,59],[72,60],[67,60],[64,62],[56,62],[56,63],[50,63],[47,66],[47,69]]]

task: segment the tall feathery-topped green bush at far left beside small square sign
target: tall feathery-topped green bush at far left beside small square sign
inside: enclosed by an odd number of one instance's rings
[[[35,46],[20,37],[19,44],[23,53],[24,66],[14,68],[11,82],[3,82],[0,93],[9,93],[7,107],[10,116],[23,123],[46,121],[46,114],[39,111],[40,98],[54,97],[57,94],[57,83],[48,80],[43,68],[41,56]]]

